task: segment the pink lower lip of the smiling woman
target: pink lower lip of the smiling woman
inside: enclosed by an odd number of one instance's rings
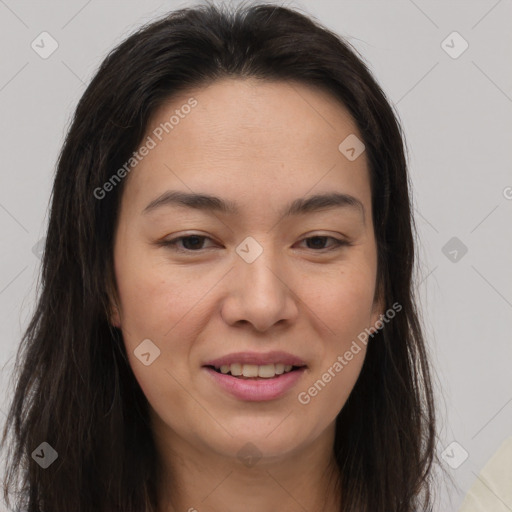
[[[238,379],[231,375],[218,373],[212,368],[203,367],[214,381],[229,394],[240,400],[263,402],[275,400],[289,391],[302,377],[305,367],[283,373],[271,379]]]

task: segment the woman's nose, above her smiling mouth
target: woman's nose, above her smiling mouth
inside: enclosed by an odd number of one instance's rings
[[[283,258],[268,248],[251,263],[242,257],[229,272],[229,291],[222,317],[230,325],[250,323],[260,332],[275,324],[293,322],[298,315],[297,279]]]

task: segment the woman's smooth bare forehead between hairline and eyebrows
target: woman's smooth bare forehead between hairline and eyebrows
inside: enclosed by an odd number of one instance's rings
[[[154,113],[144,138],[154,149],[130,173],[136,186],[129,193],[147,200],[178,185],[224,196],[230,190],[243,202],[253,193],[284,200],[279,192],[296,197],[317,184],[361,192],[368,185],[365,155],[349,161],[338,149],[352,134],[362,138],[346,107],[326,91],[219,80],[180,93]]]

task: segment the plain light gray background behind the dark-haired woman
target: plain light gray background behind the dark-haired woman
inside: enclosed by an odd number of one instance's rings
[[[8,376],[37,292],[40,260],[33,248],[45,233],[55,162],[73,109],[108,51],[129,32],[189,5],[0,0],[2,424]],[[512,435],[512,2],[282,5],[345,36],[403,123],[420,237],[418,287],[439,379],[438,452],[456,441],[469,454],[456,469],[446,464],[456,485],[440,490],[438,510],[456,511]],[[59,45],[47,59],[31,48],[43,31]],[[442,47],[453,31],[469,44],[458,58]],[[453,37],[447,42],[452,53],[462,48]],[[458,240],[443,252],[452,237]]]

